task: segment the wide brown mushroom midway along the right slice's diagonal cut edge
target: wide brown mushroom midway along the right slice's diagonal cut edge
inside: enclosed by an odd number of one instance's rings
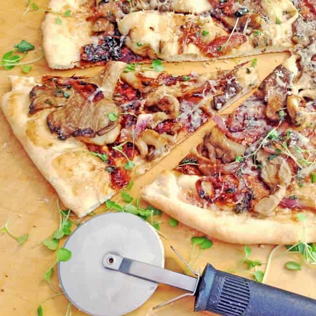
[[[232,162],[237,156],[243,156],[246,150],[245,146],[230,140],[217,126],[204,138],[204,145],[212,162],[216,158],[221,158],[224,163]]]

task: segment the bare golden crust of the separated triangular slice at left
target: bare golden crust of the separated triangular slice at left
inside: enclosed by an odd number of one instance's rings
[[[12,91],[2,97],[1,108],[15,136],[67,208],[79,217],[93,211],[114,194],[104,162],[80,140],[61,141],[50,132],[46,118],[53,109],[28,115],[33,77],[9,79]]]

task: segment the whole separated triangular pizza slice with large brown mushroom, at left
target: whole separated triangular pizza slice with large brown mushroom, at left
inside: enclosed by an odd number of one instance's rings
[[[2,110],[39,171],[78,216],[258,85],[247,64],[181,76],[158,66],[110,61],[90,78],[10,77]]]

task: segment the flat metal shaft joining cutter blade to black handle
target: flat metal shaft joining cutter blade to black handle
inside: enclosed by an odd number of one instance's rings
[[[105,255],[103,265],[107,269],[157,283],[168,284],[193,293],[196,289],[196,278],[112,253]]]

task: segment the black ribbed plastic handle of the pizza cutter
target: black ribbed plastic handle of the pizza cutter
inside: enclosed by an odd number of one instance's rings
[[[316,300],[205,267],[194,311],[226,316],[312,316]]]

